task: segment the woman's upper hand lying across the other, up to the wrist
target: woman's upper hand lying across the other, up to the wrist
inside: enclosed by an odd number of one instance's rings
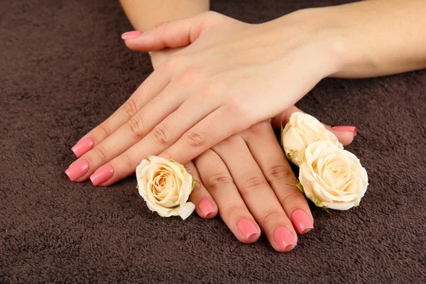
[[[134,173],[148,155],[187,163],[290,107],[336,70],[332,37],[299,15],[250,25],[209,12],[128,36],[126,45],[139,50],[190,45],[84,136],[74,148],[84,155],[67,174],[111,185]]]

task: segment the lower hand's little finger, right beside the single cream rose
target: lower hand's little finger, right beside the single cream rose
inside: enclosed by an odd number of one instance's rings
[[[206,187],[202,184],[200,173],[195,168],[194,163],[189,162],[185,164],[185,168],[192,180],[196,180],[194,189],[190,194],[190,202],[195,204],[195,211],[204,219],[212,219],[217,215],[217,204],[214,202],[212,196],[207,191]]]

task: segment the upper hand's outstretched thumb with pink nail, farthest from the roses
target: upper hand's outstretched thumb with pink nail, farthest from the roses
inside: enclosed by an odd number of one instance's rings
[[[147,31],[123,33],[121,38],[135,51],[156,51],[163,48],[180,48],[193,43],[207,28],[222,21],[225,16],[208,11],[190,18],[166,21]]]

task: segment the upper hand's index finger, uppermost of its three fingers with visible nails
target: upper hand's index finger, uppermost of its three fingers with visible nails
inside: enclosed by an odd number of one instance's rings
[[[84,153],[91,150],[114,131],[119,129],[131,117],[136,114],[153,97],[163,91],[169,82],[168,76],[162,72],[154,71],[141,86],[127,99],[127,101],[109,116],[102,124],[84,135],[80,141],[72,147],[72,151],[80,158]]]

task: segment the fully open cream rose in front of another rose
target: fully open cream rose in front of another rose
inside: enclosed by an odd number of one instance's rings
[[[299,181],[306,197],[317,206],[337,210],[358,206],[368,186],[359,159],[330,141],[307,146]]]

